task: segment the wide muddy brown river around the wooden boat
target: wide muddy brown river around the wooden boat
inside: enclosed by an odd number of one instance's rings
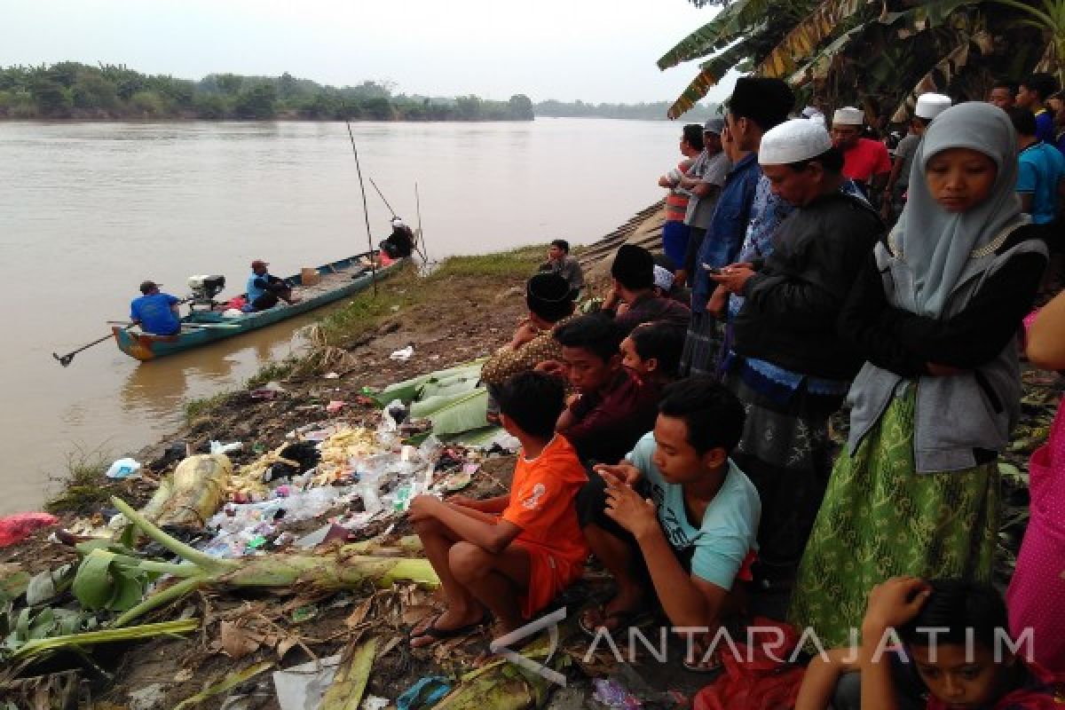
[[[431,259],[564,237],[590,243],[661,197],[679,158],[666,121],[351,125],[364,178]],[[375,243],[391,216],[366,184]],[[137,284],[194,274],[240,293],[252,259],[286,275],[366,247],[347,129],[335,122],[0,122],[0,514],[34,509],[70,456],[158,441],[183,402],[240,386],[322,311],[141,364],[104,342]]]

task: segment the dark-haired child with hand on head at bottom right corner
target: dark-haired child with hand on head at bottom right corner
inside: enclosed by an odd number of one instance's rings
[[[1023,645],[1009,639],[1007,628],[1005,605],[988,587],[889,579],[869,595],[859,651],[816,657],[796,710],[823,710],[830,699],[837,710],[1060,708],[1053,690],[1015,653]],[[902,648],[890,648],[891,630]],[[861,671],[861,683],[857,674],[843,676],[853,671]]]

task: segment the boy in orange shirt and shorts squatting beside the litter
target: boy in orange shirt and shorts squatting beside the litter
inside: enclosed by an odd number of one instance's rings
[[[495,615],[511,631],[580,576],[588,547],[573,505],[588,482],[555,433],[562,383],[522,373],[499,389],[503,427],[521,442],[510,494],[487,500],[417,496],[410,518],[440,578],[447,609],[410,633],[411,646],[463,635]]]

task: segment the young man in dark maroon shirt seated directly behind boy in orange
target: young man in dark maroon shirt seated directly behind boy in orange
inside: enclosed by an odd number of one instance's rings
[[[658,393],[621,366],[621,332],[609,318],[580,316],[555,330],[562,363],[541,369],[564,373],[577,396],[558,417],[580,460],[617,463],[654,427]]]

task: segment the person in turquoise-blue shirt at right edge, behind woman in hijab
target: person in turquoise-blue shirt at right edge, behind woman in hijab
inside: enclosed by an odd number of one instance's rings
[[[1059,195],[1065,178],[1065,158],[1050,144],[1035,137],[1035,117],[1028,109],[1010,109],[1017,131],[1017,197],[1021,210],[1036,225],[1049,225],[1058,216]]]

